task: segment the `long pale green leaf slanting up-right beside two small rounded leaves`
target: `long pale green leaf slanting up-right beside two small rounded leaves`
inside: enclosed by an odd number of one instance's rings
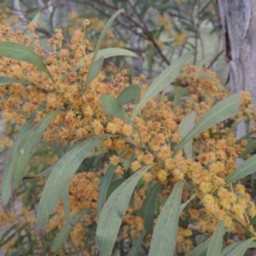
[[[180,69],[183,67],[184,62],[192,55],[192,52],[186,53],[175,61],[171,66],[167,67],[166,70],[154,79],[154,82],[148,87],[141,98],[141,101],[133,109],[131,119],[135,119],[137,113],[151,100],[154,96],[160,93],[161,90],[166,88],[168,84],[171,84],[174,79],[177,78]]]

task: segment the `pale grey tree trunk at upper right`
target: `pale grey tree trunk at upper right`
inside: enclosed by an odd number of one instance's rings
[[[256,107],[256,1],[217,0],[224,52],[230,66],[230,90],[247,90]],[[244,124],[237,137],[245,134]]]

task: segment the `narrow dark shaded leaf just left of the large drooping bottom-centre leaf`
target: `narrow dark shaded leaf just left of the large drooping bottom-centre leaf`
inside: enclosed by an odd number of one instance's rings
[[[103,208],[104,203],[106,201],[108,188],[109,188],[109,185],[111,183],[114,170],[115,170],[115,166],[109,165],[105,176],[102,178],[102,185],[101,185],[100,195],[99,195],[98,205],[97,205],[97,216],[98,217],[100,217],[100,214],[102,212],[102,208]]]

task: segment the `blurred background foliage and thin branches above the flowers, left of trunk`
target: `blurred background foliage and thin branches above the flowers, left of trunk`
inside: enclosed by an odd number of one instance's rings
[[[131,73],[158,75],[177,57],[194,49],[194,65],[211,68],[224,84],[227,70],[219,37],[217,6],[214,0],[146,1],[4,1],[1,20],[15,28],[26,27],[41,11],[37,32],[42,40],[62,28],[67,41],[75,28],[90,20],[86,38],[91,50],[102,32],[104,22],[118,9],[125,9],[108,31],[102,48],[122,47],[141,56],[139,60],[115,57],[106,61],[106,70],[132,67]],[[11,17],[11,18],[10,18]],[[118,70],[118,69],[117,69]]]

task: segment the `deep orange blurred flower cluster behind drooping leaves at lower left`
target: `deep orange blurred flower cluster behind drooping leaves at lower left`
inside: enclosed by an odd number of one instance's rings
[[[99,195],[100,178],[96,172],[80,172],[73,177],[69,184],[69,207],[71,216],[75,216],[84,209],[90,209],[88,214],[85,214],[76,224],[70,233],[71,239],[75,247],[79,248],[84,255],[93,255],[94,253],[94,239],[90,235],[90,227],[96,224],[96,210],[97,199]],[[60,201],[55,209],[53,218],[49,219],[49,223],[45,232],[50,232],[58,228],[61,230],[62,226],[67,223],[65,216],[63,201]],[[84,246],[84,237],[87,237],[86,245]],[[67,249],[70,253],[75,253],[73,247],[68,247],[60,252],[60,255],[65,255]]]

